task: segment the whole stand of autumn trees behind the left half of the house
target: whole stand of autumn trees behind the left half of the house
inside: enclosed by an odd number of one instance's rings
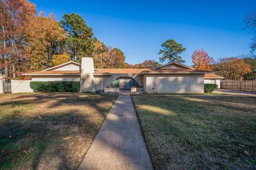
[[[105,46],[94,37],[81,15],[53,13],[36,16],[36,5],[27,0],[0,0],[0,73],[20,79],[22,73],[40,71],[91,56],[95,67],[123,68],[122,50]]]

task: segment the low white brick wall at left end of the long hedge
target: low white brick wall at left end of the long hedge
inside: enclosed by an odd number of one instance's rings
[[[31,80],[11,80],[12,93],[18,92],[33,92],[33,89],[30,88]]]

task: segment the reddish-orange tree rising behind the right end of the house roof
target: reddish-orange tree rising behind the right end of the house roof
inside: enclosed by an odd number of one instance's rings
[[[212,71],[214,59],[204,50],[195,50],[192,54],[193,68],[197,70]]]

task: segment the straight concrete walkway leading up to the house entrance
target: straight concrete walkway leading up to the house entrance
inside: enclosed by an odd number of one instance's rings
[[[130,94],[118,96],[78,169],[153,169]]]

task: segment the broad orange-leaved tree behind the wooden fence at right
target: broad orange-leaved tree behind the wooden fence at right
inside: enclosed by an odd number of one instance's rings
[[[243,80],[243,75],[251,71],[251,66],[238,57],[219,58],[218,62],[214,65],[214,72],[222,75],[226,80]]]

